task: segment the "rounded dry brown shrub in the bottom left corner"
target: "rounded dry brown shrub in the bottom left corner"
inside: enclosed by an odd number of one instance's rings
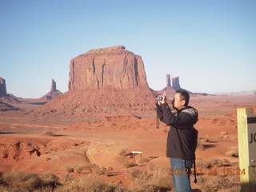
[[[12,172],[4,176],[8,191],[33,191],[43,186],[43,181],[38,174]]]

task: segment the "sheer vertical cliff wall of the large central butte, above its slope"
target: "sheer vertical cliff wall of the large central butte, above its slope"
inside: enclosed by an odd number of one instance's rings
[[[124,46],[90,50],[70,61],[69,90],[147,87],[141,56]]]

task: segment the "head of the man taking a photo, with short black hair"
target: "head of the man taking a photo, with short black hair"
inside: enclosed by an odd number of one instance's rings
[[[174,109],[180,110],[188,106],[190,102],[190,94],[186,90],[176,90],[174,94],[173,107]]]

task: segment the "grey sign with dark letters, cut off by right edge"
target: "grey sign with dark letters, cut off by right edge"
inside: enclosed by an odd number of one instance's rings
[[[256,166],[256,114],[246,115],[249,166]]]

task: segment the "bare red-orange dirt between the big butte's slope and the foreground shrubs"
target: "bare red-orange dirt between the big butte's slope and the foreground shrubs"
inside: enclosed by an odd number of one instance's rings
[[[199,111],[199,121],[195,126],[199,137],[210,138],[204,150],[197,150],[197,158],[203,161],[227,158],[237,163],[238,158],[226,154],[238,146],[236,108],[252,107],[255,112],[256,95],[199,95],[191,97],[190,105]],[[68,114],[65,118],[65,114],[58,116],[54,112],[52,117],[44,115],[47,107],[35,110],[37,114],[34,116],[26,114],[27,110],[0,112],[0,172],[24,170],[64,174],[67,166],[91,162],[113,167],[114,172],[121,174],[108,179],[125,183],[127,168],[123,167],[122,149],[128,149],[128,152],[142,150],[142,157],[150,159],[142,166],[150,163],[170,166],[166,158],[166,130],[169,127],[161,122],[160,129],[156,129],[154,111],[141,110],[143,115],[138,117],[128,112],[106,115],[95,110],[98,118],[82,117],[79,113]],[[49,131],[54,132],[54,136],[46,135]]]

